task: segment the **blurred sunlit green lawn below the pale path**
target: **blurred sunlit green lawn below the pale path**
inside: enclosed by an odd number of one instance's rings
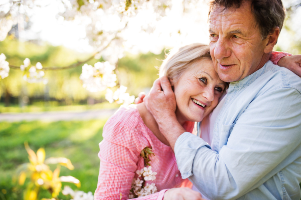
[[[13,182],[18,165],[29,162],[24,141],[37,151],[46,150],[46,158],[66,157],[75,169],[61,167],[60,175],[72,175],[81,181],[79,190],[94,193],[99,172],[98,143],[102,140],[102,128],[105,120],[58,121],[58,122],[0,122],[0,199],[23,199],[24,186]],[[56,165],[52,165],[52,170]],[[69,184],[73,189],[76,187]],[[41,192],[39,199],[50,197]],[[64,195],[60,199],[66,199]]]

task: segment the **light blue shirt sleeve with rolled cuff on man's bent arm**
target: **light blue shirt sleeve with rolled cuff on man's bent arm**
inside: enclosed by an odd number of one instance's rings
[[[219,152],[202,138],[182,134],[175,144],[182,177],[210,199],[236,199],[262,185],[287,165],[283,160],[300,145],[300,98],[293,88],[261,94],[235,124],[223,125],[219,134],[229,136]],[[299,153],[295,156],[289,159]]]

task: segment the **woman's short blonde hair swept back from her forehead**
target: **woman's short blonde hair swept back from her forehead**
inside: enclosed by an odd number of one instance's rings
[[[183,72],[202,59],[211,60],[208,45],[195,43],[180,49],[173,49],[163,61],[159,69],[159,76],[167,76],[175,83],[182,76]]]

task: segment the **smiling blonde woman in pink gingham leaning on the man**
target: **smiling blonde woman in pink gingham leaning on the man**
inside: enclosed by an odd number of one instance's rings
[[[173,50],[160,68],[175,92],[177,119],[189,132],[218,104],[227,87],[215,72],[209,46],[192,44]],[[99,144],[100,170],[95,200],[163,199],[172,195],[201,195],[188,188],[176,158],[145,105],[121,107],[106,122]],[[149,166],[150,165],[150,166]],[[182,188],[181,188],[182,187]],[[170,189],[169,188],[174,188]]]

